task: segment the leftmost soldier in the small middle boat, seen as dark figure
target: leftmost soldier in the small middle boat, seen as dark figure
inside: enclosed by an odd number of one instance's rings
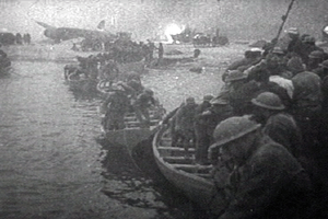
[[[105,130],[119,130],[125,128],[125,114],[128,111],[129,99],[125,90],[117,85],[112,84],[110,92],[103,103],[107,108],[102,125]]]

